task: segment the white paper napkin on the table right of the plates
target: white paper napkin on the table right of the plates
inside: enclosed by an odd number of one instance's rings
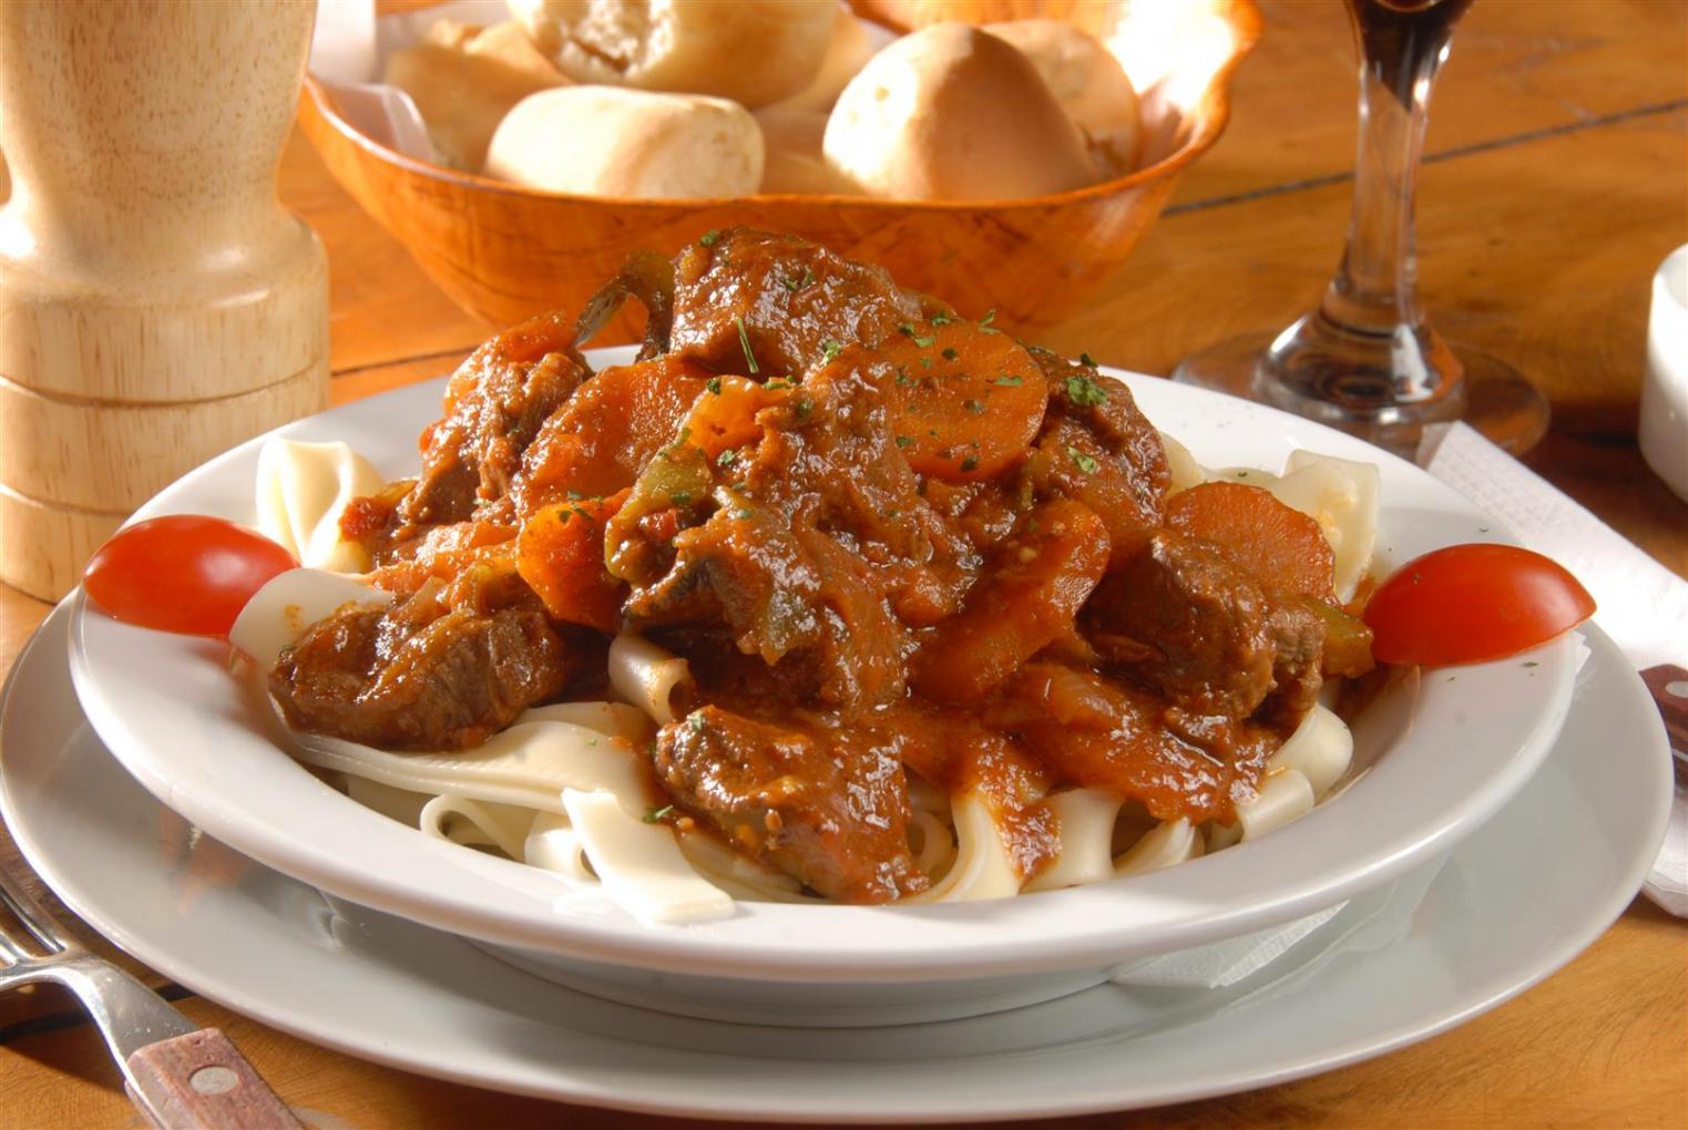
[[[1572,570],[1599,605],[1593,622],[1637,670],[1688,666],[1688,582],[1463,423],[1426,437],[1420,464],[1499,518],[1524,545]],[[1671,914],[1688,917],[1688,801],[1681,789],[1644,891]]]

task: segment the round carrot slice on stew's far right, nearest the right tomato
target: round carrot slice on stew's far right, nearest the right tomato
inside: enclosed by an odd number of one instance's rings
[[[1242,482],[1204,482],[1166,501],[1166,525],[1210,541],[1271,592],[1332,599],[1335,555],[1318,523]]]

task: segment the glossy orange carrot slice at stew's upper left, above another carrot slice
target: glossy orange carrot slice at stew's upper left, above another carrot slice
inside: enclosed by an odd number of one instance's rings
[[[657,450],[674,442],[709,373],[690,361],[655,358],[603,369],[557,410],[522,459],[513,487],[522,514],[574,494],[604,496],[633,486]]]

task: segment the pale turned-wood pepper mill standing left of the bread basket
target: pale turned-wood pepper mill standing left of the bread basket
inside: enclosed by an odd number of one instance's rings
[[[0,580],[61,597],[172,479],[327,403],[327,263],[275,196],[314,13],[0,3]]]

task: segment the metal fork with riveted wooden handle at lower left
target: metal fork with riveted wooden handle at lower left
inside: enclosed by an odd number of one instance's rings
[[[0,992],[57,982],[76,993],[152,1125],[304,1130],[223,1032],[84,950],[3,865],[0,906],[10,911],[0,914]]]

